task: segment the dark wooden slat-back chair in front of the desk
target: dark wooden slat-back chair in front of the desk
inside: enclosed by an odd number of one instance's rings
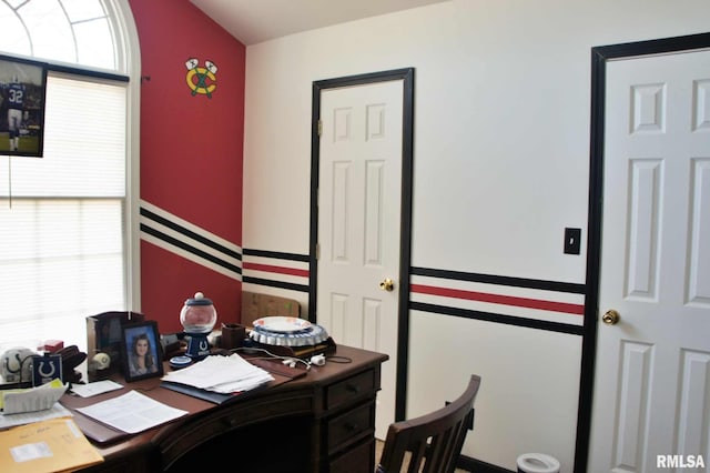
[[[469,427],[473,429],[474,401],[480,386],[480,376],[473,374],[466,391],[454,402],[408,421],[389,425],[382,459],[376,473],[406,472],[449,473],[464,446]]]

